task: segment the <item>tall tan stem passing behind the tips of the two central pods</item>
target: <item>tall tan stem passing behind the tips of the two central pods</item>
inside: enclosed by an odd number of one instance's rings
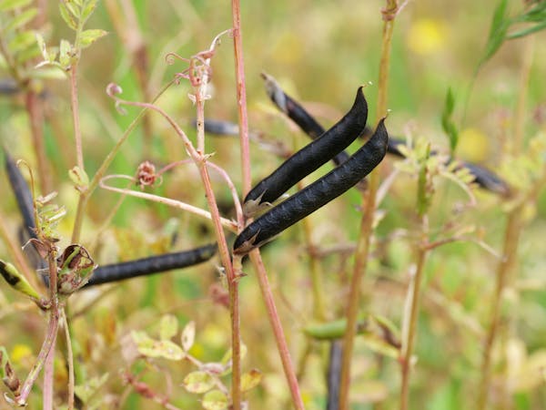
[[[378,109],[377,120],[387,113],[387,95],[389,80],[390,43],[394,29],[394,17],[398,11],[398,2],[388,0],[383,12],[383,42],[379,63]],[[379,167],[378,167],[379,168]],[[373,220],[376,208],[376,194],[379,187],[378,169],[369,176],[369,188],[363,195],[364,215],[360,222],[359,241],[355,256],[353,275],[349,288],[349,302],[346,308],[347,332],[343,337],[343,355],[341,360],[341,381],[339,386],[339,410],[349,410],[350,367],[352,362],[353,343],[357,330],[359,312],[360,285],[366,274],[369,245],[373,234]]]

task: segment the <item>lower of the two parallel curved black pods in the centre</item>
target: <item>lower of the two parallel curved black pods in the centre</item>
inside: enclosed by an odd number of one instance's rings
[[[270,241],[368,175],[387,153],[389,135],[384,121],[379,121],[374,135],[346,162],[250,223],[235,240],[233,252],[245,254]]]

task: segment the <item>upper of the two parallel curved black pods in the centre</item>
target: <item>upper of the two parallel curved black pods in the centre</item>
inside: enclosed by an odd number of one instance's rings
[[[243,205],[245,214],[252,215],[260,204],[277,200],[298,180],[347,148],[364,130],[367,119],[368,103],[359,87],[352,108],[336,125],[292,155],[248,192]]]

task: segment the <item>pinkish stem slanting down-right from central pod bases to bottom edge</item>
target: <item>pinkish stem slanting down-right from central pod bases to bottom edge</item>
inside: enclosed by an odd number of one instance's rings
[[[280,361],[287,377],[288,388],[290,389],[290,395],[292,395],[292,402],[298,410],[305,409],[301,394],[299,393],[298,378],[294,372],[294,365],[290,358],[290,352],[288,351],[288,344],[282,330],[282,324],[278,317],[277,307],[273,300],[273,293],[271,292],[271,286],[268,281],[268,272],[261,259],[261,255],[258,250],[250,252],[250,260],[252,261],[254,268],[258,276],[258,283],[260,291],[262,292],[262,298],[266,303],[268,309],[268,319],[275,334],[275,342],[277,343],[278,354],[280,355]]]

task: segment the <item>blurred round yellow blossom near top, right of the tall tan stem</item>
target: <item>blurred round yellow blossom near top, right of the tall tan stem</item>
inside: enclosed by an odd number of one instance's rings
[[[421,56],[437,53],[446,44],[447,31],[446,25],[440,20],[420,18],[410,26],[408,46]]]

